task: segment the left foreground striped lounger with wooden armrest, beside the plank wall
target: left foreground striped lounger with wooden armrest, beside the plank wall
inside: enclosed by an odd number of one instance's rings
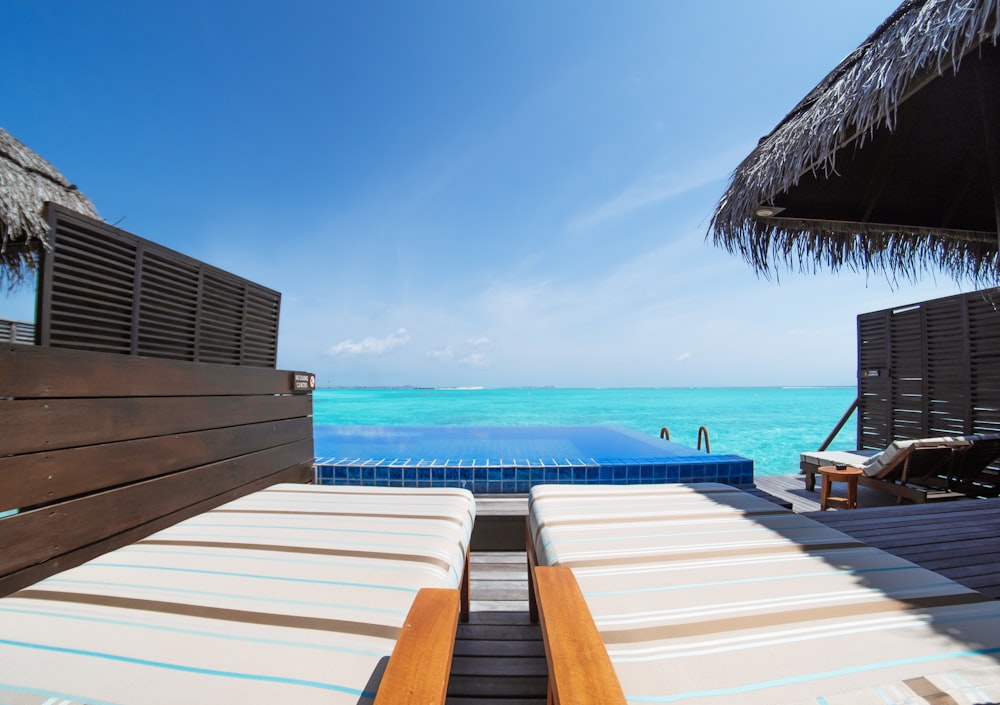
[[[247,495],[0,599],[0,702],[443,703],[474,515],[459,489]]]

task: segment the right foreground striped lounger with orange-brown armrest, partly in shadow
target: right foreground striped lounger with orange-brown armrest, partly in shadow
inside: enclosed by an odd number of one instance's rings
[[[1000,603],[740,490],[539,486],[528,527],[555,703],[1000,702]]]

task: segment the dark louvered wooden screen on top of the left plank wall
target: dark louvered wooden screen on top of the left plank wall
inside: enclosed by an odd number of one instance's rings
[[[275,367],[281,294],[49,203],[39,345]]]

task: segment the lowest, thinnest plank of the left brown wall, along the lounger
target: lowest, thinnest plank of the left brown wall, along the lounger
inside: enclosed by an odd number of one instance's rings
[[[18,570],[4,575],[0,572],[0,596],[10,594],[15,590],[32,585],[43,578],[54,575],[60,571],[68,570],[81,563],[96,558],[103,553],[113,551],[130,543],[134,543],[161,529],[173,526],[179,521],[188,519],[196,514],[201,514],[209,509],[214,509],[220,504],[225,504],[231,500],[244,495],[262,490],[278,482],[311,482],[313,476],[313,466],[311,461],[301,462],[288,468],[276,470],[275,472],[263,475],[252,482],[238,487],[234,487],[227,492],[211,497],[206,497],[182,509],[170,514],[157,517],[139,526],[133,526],[121,533],[108,536],[95,543],[81,546],[76,550],[54,556],[50,560],[30,565],[22,570]],[[12,517],[0,519],[0,535],[3,535],[3,522]]]

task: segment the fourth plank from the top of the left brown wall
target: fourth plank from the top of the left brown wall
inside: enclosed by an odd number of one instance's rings
[[[0,575],[141,527],[302,463],[312,439],[0,519]]]

